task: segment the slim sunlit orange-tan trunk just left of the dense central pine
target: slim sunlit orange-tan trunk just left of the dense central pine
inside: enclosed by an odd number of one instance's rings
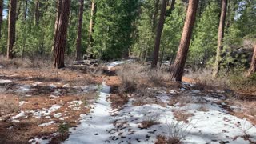
[[[95,14],[95,2],[94,0],[91,1],[91,8],[90,8],[90,26],[89,26],[89,46],[88,49],[93,47],[93,30],[94,30],[94,14]]]

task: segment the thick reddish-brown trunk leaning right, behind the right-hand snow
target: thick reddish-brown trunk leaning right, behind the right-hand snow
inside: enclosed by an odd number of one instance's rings
[[[188,10],[186,12],[186,21],[182,31],[182,39],[178,47],[178,53],[174,62],[174,71],[172,74],[172,79],[175,81],[182,81],[186,56],[190,48],[190,41],[198,10],[198,3],[199,0],[190,0]]]

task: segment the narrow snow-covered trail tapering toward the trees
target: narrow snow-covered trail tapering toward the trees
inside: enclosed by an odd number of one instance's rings
[[[107,130],[114,128],[109,114],[110,102],[106,100],[110,96],[109,93],[110,86],[103,83],[99,98],[94,104],[94,110],[91,110],[89,115],[81,115],[81,124],[75,130],[70,129],[70,137],[64,143],[104,143],[109,139]]]

